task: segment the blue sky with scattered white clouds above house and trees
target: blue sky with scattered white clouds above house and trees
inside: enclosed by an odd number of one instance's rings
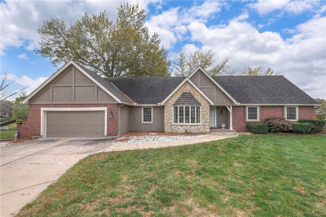
[[[0,74],[14,82],[6,92],[29,94],[60,66],[36,55],[43,21],[63,18],[68,26],[85,12],[104,10],[112,20],[121,3],[146,10],[149,33],[174,53],[211,49],[229,58],[237,73],[261,66],[281,72],[313,98],[326,99],[326,1],[2,1]],[[276,87],[277,88],[277,87]]]

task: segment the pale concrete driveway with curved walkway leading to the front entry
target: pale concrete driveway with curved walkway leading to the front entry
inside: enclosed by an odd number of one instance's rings
[[[80,159],[94,153],[162,148],[236,137],[213,132],[205,137],[164,143],[112,145],[108,139],[46,138],[0,148],[0,216],[13,216]]]

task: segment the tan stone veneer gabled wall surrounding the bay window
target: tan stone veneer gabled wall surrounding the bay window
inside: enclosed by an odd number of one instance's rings
[[[173,124],[173,103],[183,92],[190,92],[201,104],[200,124]],[[191,84],[185,82],[165,103],[165,132],[209,132],[209,102]]]

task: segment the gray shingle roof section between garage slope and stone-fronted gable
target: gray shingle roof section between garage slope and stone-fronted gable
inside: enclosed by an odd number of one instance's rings
[[[138,104],[163,101],[185,77],[107,77],[119,90]]]

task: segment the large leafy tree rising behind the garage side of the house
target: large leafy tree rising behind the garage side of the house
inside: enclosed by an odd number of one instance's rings
[[[37,30],[40,49],[35,50],[53,65],[74,60],[107,77],[169,76],[168,53],[143,24],[145,10],[121,4],[115,22],[108,14],[87,13],[67,28],[63,19],[43,21]]]

